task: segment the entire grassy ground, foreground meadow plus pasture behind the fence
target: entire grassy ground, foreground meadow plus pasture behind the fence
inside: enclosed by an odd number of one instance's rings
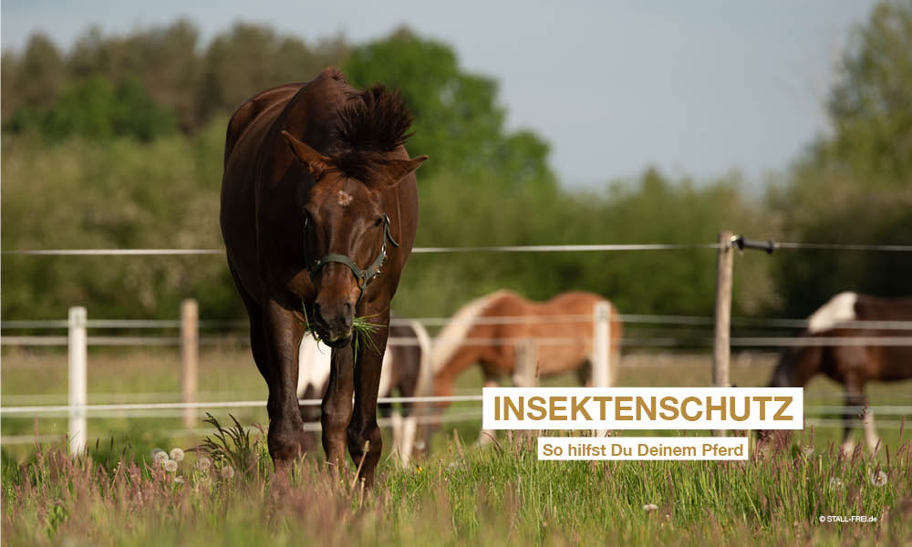
[[[64,354],[5,351],[3,359],[4,405],[11,404],[7,397],[15,402],[24,394],[66,401]],[[732,381],[765,385],[773,362],[772,356],[736,357]],[[709,363],[705,355],[627,355],[618,385],[706,386]],[[207,349],[200,367],[207,400],[265,398],[245,348]],[[88,375],[90,402],[138,402],[146,392],[168,392],[179,400],[174,351],[93,351]],[[573,382],[556,377],[543,385]],[[472,370],[458,387],[477,391],[481,383]],[[839,393],[821,379],[805,397],[831,400]],[[908,382],[872,384],[869,394],[872,404],[896,403],[908,397]],[[231,423],[226,413],[214,412],[223,424]],[[353,466],[334,480],[322,453],[308,456],[290,476],[276,477],[264,430],[251,427],[267,423],[264,409],[237,417],[233,428],[247,439],[242,447],[235,440],[240,437],[223,434],[223,452],[210,451],[210,469],[198,468],[198,453],[189,451],[173,474],[153,462],[151,449],[204,447],[203,437],[217,439],[214,424],[181,432],[173,431],[181,428],[176,416],[93,418],[94,442],[88,454],[73,459],[59,440],[66,418],[5,417],[4,436],[37,429],[57,440],[3,447],[3,539],[14,545],[912,541],[912,443],[886,420],[878,428],[883,446],[874,457],[859,447],[846,458],[837,449],[838,429],[808,428],[772,449],[751,450],[751,459],[741,462],[538,461],[534,438],[526,435],[502,433],[492,445],[475,447],[480,424],[474,420],[441,428],[429,451],[407,469],[385,449],[376,488],[364,492],[352,480]],[[227,465],[237,470],[233,477],[223,477]],[[886,484],[877,486],[872,477],[881,471]],[[644,509],[652,505],[654,511]],[[878,522],[822,524],[819,515],[875,516]]]

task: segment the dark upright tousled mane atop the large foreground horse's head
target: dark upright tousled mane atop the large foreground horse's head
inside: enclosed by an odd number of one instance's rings
[[[347,176],[367,181],[387,154],[411,136],[412,116],[399,91],[375,84],[357,93],[338,112],[333,165]]]

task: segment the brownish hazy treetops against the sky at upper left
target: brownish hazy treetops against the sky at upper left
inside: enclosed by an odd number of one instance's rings
[[[124,36],[90,28],[66,53],[46,36],[35,35],[21,54],[4,53],[3,120],[22,108],[47,108],[63,89],[102,76],[115,86],[138,82],[171,112],[181,131],[193,134],[255,92],[306,81],[346,55],[341,38],[308,46],[267,26],[243,23],[217,34],[204,48],[196,27],[185,20]]]

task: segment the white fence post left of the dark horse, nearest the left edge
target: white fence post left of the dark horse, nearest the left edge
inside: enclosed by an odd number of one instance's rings
[[[69,453],[78,455],[86,449],[86,365],[88,361],[86,308],[69,308],[67,335],[69,373]]]

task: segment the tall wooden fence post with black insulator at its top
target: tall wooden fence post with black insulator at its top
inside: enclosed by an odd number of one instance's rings
[[[716,320],[715,341],[712,346],[712,386],[729,387],[729,362],[731,360],[731,269],[734,250],[731,232],[719,232],[719,254],[716,263]],[[725,431],[715,431],[720,437]]]

